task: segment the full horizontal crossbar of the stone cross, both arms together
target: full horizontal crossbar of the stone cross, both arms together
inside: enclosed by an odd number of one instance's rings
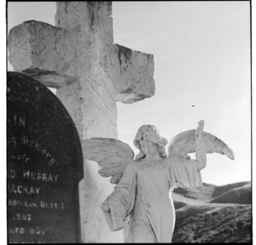
[[[153,55],[119,44],[104,45],[90,31],[23,22],[9,31],[9,61],[15,71],[49,88],[67,86],[99,67],[113,81],[114,100],[131,104],[154,95]]]

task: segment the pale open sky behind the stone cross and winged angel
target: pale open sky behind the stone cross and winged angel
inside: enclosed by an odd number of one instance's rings
[[[10,2],[8,32],[26,20],[55,26],[55,10],[55,2]],[[114,43],[154,54],[155,94],[117,103],[119,140],[137,154],[133,139],[143,124],[172,140],[204,119],[235,160],[207,154],[203,182],[251,180],[250,3],[113,2],[112,16]]]

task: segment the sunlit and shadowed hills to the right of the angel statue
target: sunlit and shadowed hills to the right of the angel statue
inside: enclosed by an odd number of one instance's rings
[[[252,242],[251,182],[172,192],[176,225],[172,243]]]

